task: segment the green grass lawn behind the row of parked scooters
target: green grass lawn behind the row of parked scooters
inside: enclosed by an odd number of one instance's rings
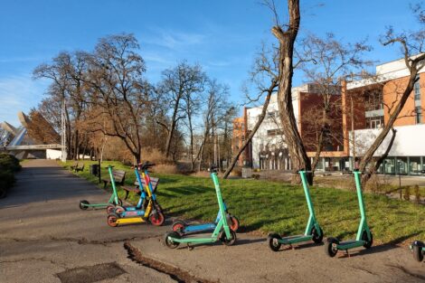
[[[65,166],[72,164],[72,161],[67,162]],[[97,177],[89,174],[89,164],[90,162],[86,162],[84,171],[78,175],[97,183]],[[103,177],[108,176],[107,169],[103,167],[109,164],[126,170],[126,183],[134,183],[133,170],[118,162],[105,161],[102,165]],[[218,205],[211,178],[152,175],[160,178],[158,202],[165,209],[166,215],[204,222],[215,219]],[[220,183],[223,198],[230,212],[240,219],[243,231],[277,231],[284,234],[304,231],[308,211],[302,187],[243,179],[220,179]],[[122,196],[123,193],[119,192],[119,195]],[[132,196],[130,200],[135,203],[137,197]],[[311,187],[311,197],[316,208],[316,218],[325,236],[340,239],[355,237],[360,217],[355,192]],[[372,193],[365,193],[364,203],[376,244],[425,240],[423,205],[392,200]]]

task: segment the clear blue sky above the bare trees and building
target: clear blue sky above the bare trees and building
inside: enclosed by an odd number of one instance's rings
[[[284,2],[277,0],[277,3]],[[91,51],[99,37],[134,33],[146,60],[146,76],[156,82],[177,61],[199,62],[208,74],[231,87],[241,103],[260,42],[274,42],[272,18],[260,0],[14,0],[0,4],[0,121],[18,125],[18,109],[42,99],[48,81],[32,80],[33,69],[61,51]],[[335,33],[345,42],[368,37],[369,58],[392,61],[398,48],[382,47],[385,26],[414,29],[409,1],[301,0],[303,33]],[[319,5],[324,4],[324,5]],[[303,78],[296,73],[295,85]]]

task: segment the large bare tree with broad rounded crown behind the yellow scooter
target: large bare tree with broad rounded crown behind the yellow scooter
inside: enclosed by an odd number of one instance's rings
[[[152,90],[144,79],[145,61],[138,49],[132,34],[100,39],[95,52],[88,54],[90,72],[85,79],[91,103],[96,106],[89,115],[92,130],[120,138],[137,163],[141,160],[144,110]],[[110,127],[104,127],[99,116],[105,116]]]

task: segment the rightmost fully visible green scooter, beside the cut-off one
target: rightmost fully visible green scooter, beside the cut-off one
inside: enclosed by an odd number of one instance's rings
[[[325,250],[327,255],[331,258],[335,257],[338,250],[345,250],[345,252],[348,254],[348,250],[350,249],[362,246],[366,249],[370,249],[372,247],[373,235],[366,221],[366,212],[364,209],[364,200],[360,175],[361,173],[358,170],[354,170],[355,189],[357,190],[357,199],[359,201],[360,214],[362,216],[357,235],[355,237],[355,240],[348,241],[339,241],[336,238],[327,238]]]

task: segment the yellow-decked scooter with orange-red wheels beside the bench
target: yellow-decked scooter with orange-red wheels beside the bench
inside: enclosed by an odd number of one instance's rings
[[[108,215],[109,226],[117,227],[120,224],[140,223],[146,222],[147,220],[156,226],[164,224],[165,216],[161,206],[156,202],[156,194],[152,193],[154,190],[147,172],[147,169],[154,165],[155,164],[149,163],[138,165],[140,170],[145,170],[145,172],[142,172],[142,176],[140,176],[138,171],[136,171],[137,181],[143,188],[141,177],[145,180],[147,196],[145,196],[145,198],[140,198],[139,203],[137,203],[137,206],[139,206],[137,209],[133,209],[133,207],[126,208],[117,206],[115,211]],[[146,201],[142,204],[143,200]]]

